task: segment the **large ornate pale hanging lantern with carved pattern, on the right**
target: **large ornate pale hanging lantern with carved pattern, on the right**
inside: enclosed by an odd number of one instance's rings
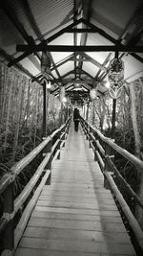
[[[109,70],[109,93],[113,99],[120,97],[124,84],[124,62],[120,58],[113,58]]]

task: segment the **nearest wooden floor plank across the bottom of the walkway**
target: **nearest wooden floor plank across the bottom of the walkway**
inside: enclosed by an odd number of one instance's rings
[[[56,251],[88,252],[88,253],[107,253],[110,255],[120,253],[119,255],[130,255],[133,253],[131,244],[109,244],[99,242],[82,242],[69,240],[50,240],[24,237],[20,247],[37,248]]]

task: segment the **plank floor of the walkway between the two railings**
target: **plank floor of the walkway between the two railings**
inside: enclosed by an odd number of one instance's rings
[[[73,124],[15,255],[136,255],[83,131]]]

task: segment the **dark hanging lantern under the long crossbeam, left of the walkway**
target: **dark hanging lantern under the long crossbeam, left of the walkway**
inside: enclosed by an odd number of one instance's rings
[[[42,52],[41,72],[43,75],[50,74],[51,72],[51,59],[48,57],[47,52]]]

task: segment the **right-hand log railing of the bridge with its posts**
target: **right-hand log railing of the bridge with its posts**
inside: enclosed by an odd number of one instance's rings
[[[133,238],[135,238],[138,250],[143,251],[143,231],[138,221],[136,221],[134,211],[136,205],[143,210],[143,201],[134,193],[130,184],[117,170],[114,164],[114,152],[126,158],[140,174],[143,173],[143,161],[135,157],[129,151],[116,145],[111,138],[105,137],[97,128],[93,128],[83,118],[81,118],[81,126],[89,140],[89,146],[94,153],[94,160],[98,162],[104,175],[104,186],[106,189],[111,189],[113,198],[123,216],[123,220],[128,223],[129,232],[131,232]],[[118,186],[118,184],[120,184],[120,186]],[[125,195],[128,195],[128,202],[131,201],[130,205],[127,203]]]

